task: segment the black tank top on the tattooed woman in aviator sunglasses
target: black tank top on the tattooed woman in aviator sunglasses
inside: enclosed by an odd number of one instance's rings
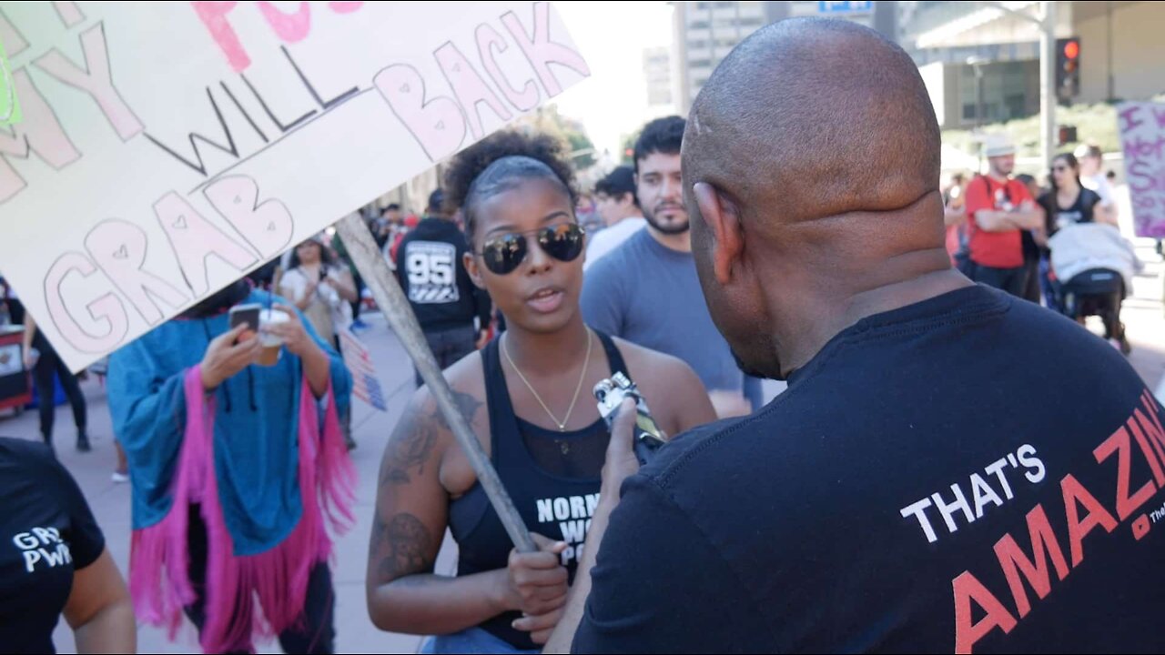
[[[612,374],[622,372],[630,378],[623,357],[607,334],[595,331],[607,353]],[[591,515],[599,503],[599,486],[602,481],[602,456],[610,432],[602,418],[581,430],[558,432],[546,430],[514,414],[506,375],[502,372],[499,352],[500,339],[494,339],[481,352],[486,378],[486,403],[489,409],[490,459],[497,470],[502,485],[514,499],[522,521],[530,531],[552,540],[565,541],[569,547],[563,552],[563,565],[574,580],[582,543],[591,527]],[[589,390],[589,389],[587,389]],[[581,394],[580,394],[581,396]],[[579,397],[581,407],[588,402]],[[531,449],[546,451],[556,449],[563,463],[578,458],[587,459],[589,471],[550,471],[531,453]],[[594,459],[594,451],[600,456]],[[572,455],[578,453],[578,458]],[[567,465],[567,469],[570,466]],[[457,541],[459,554],[457,572],[468,576],[482,571],[504,569],[509,552],[514,548],[501,520],[481,488],[474,484],[465,495],[450,503],[449,528]],[[515,648],[534,649],[530,633],[510,627],[518,612],[507,612],[481,624],[481,628],[509,642]]]

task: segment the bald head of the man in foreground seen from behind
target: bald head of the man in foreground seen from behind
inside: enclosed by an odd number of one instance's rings
[[[689,118],[684,195],[708,309],[746,371],[784,376],[871,291],[908,298],[949,270],[939,150],[917,66],[874,30],[790,19],[723,59]]]

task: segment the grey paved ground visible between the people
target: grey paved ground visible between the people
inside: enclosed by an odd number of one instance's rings
[[[1165,373],[1162,262],[1153,252],[1151,241],[1137,241],[1137,245],[1138,254],[1146,261],[1148,266],[1136,280],[1134,297],[1125,302],[1123,317],[1135,347],[1130,360],[1145,382],[1151,388],[1158,389],[1158,397],[1160,397],[1159,387],[1163,373]],[[412,379],[412,368],[400,344],[386,328],[383,319],[377,316],[368,321],[373,328],[365,334],[365,339],[379,366],[381,380],[389,394],[390,407],[389,411],[384,414],[370,410],[362,403],[355,403],[354,428],[355,438],[360,445],[353,452],[353,458],[360,472],[356,507],[359,522],[337,544],[334,572],[338,596],[336,618],[338,647],[344,653],[412,653],[418,643],[417,638],[379,632],[368,620],[365,606],[365,557],[372,523],[376,467],[389,431],[411,392]],[[1092,328],[1099,326],[1093,325]],[[90,402],[90,430],[94,439],[93,452],[80,455],[73,450],[72,417],[66,406],[57,409],[57,450],[64,464],[80,483],[98,521],[105,529],[108,547],[125,571],[129,557],[129,487],[114,485],[110,480],[110,473],[114,466],[114,452],[104,389],[96,380],[85,382],[83,388]],[[782,388],[781,385],[769,382],[768,395],[771,397],[779,388]],[[35,411],[24,413],[15,418],[0,417],[0,434],[36,438]],[[439,571],[452,570],[451,556],[451,550],[446,548],[438,561]],[[61,653],[75,652],[72,634],[63,627],[63,624],[57,629],[56,643]],[[197,652],[191,631],[186,631],[177,643],[170,643],[161,629],[149,626],[141,627],[139,647],[146,653]],[[260,652],[277,653],[278,650],[275,645],[266,645],[261,647]]]

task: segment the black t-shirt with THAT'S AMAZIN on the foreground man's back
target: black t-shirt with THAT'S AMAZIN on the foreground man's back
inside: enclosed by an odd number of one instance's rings
[[[863,319],[627,480],[574,650],[1160,653],[1162,420],[1002,293]]]

